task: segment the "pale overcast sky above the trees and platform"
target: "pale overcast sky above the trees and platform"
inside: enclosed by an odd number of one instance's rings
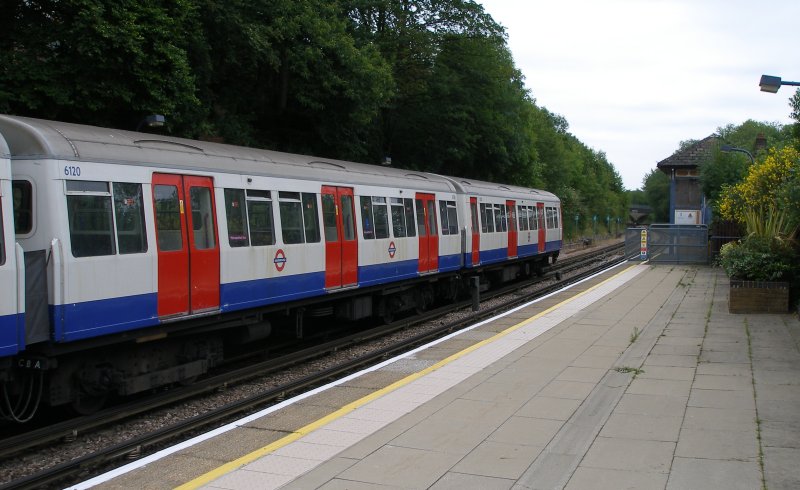
[[[800,0],[476,0],[508,33],[539,106],[606,153],[627,189],[683,140],[748,119],[788,124]]]

